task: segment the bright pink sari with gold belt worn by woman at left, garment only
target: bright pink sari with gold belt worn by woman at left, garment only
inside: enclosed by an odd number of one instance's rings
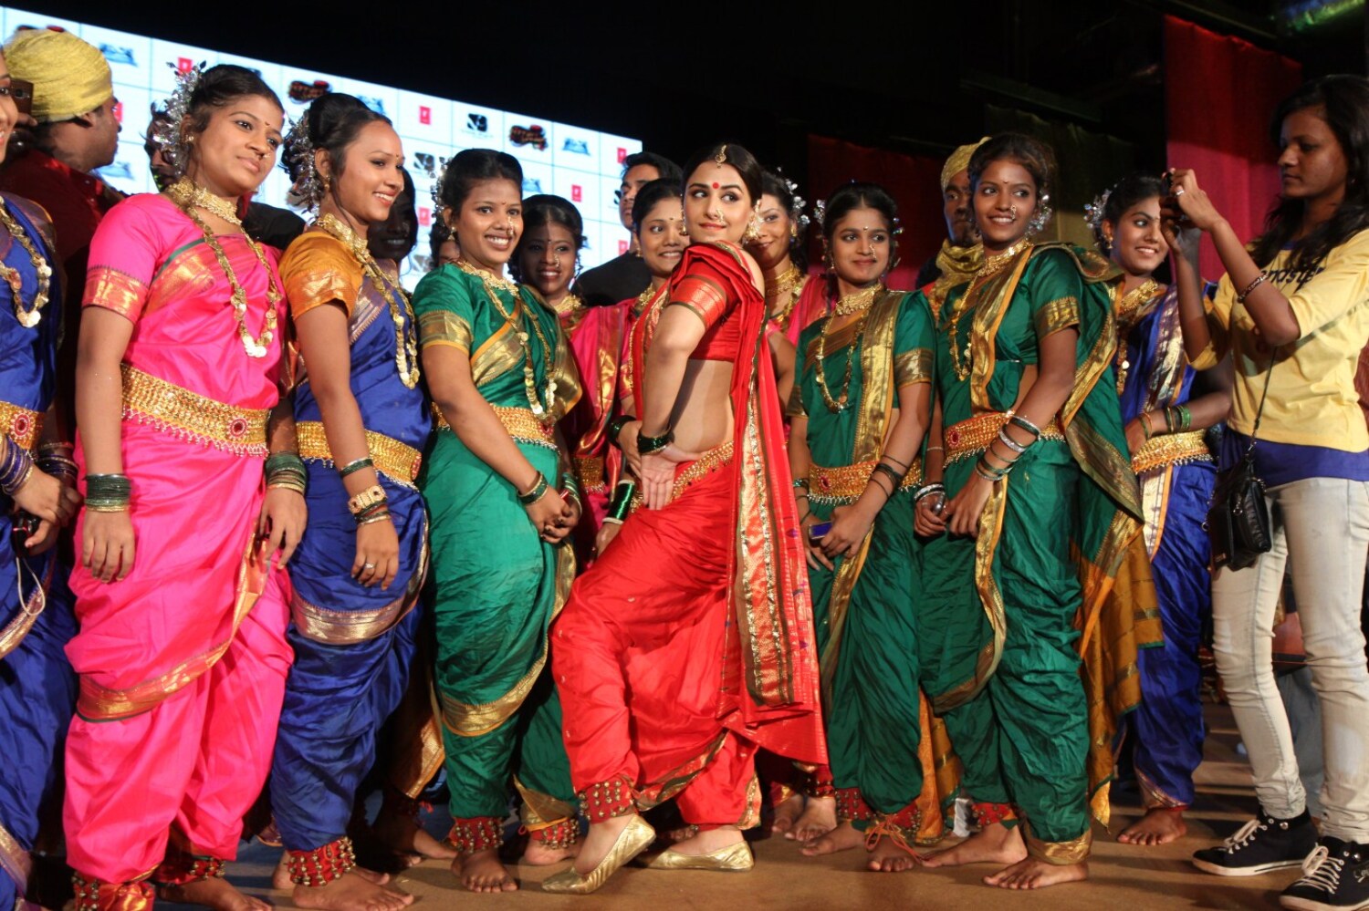
[[[275,254],[218,238],[260,336]],[[214,250],[175,205],[136,196],[90,245],[85,306],[133,323],[123,357],[123,472],[137,553],[122,581],[77,566],[81,676],[67,740],[71,866],[126,882],[185,854],[233,859],[271,761],[290,650],[289,581],[251,559],[264,497],[266,413],[275,406],[286,312],[264,357],[238,338]],[[85,476],[78,439],[77,462]],[[77,539],[86,521],[82,512]],[[167,856],[175,867],[175,856]],[[182,864],[183,866],[183,864]],[[163,867],[159,880],[174,881]]]

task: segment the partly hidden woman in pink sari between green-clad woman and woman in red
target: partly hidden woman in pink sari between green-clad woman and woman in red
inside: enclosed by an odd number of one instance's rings
[[[537,290],[556,311],[571,341],[583,394],[561,420],[565,446],[575,460],[575,476],[585,497],[585,514],[572,532],[576,566],[583,570],[594,559],[594,538],[608,514],[609,492],[622,473],[622,453],[609,446],[608,425],[623,350],[622,306],[586,306],[571,294],[585,227],[580,213],[559,196],[530,196],[523,200],[524,234],[509,271],[517,282]]]

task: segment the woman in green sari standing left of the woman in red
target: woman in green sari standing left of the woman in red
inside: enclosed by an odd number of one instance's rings
[[[579,380],[556,312],[502,278],[523,228],[522,186],[502,152],[453,157],[439,202],[461,257],[413,291],[438,409],[419,484],[433,516],[452,870],[472,892],[517,888],[497,855],[511,777],[531,833],[526,862],[571,856],[578,833],[546,631],[575,573],[564,540],[579,491],[556,421]]]

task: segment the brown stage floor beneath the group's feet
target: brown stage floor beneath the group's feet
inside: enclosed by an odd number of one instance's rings
[[[457,885],[445,863],[430,860],[397,877],[418,897],[415,908],[657,908],[660,911],[723,911],[724,908],[967,908],[988,911],[1150,911],[1160,908],[1277,908],[1279,890],[1296,878],[1295,870],[1261,877],[1223,878],[1199,873],[1188,856],[1235,832],[1255,810],[1250,769],[1238,754],[1238,737],[1229,713],[1207,706],[1210,726],[1206,756],[1198,770],[1198,804],[1188,814],[1188,836],[1160,848],[1118,844],[1101,826],[1094,832],[1090,880],[1043,892],[1006,893],[980,884],[994,867],[913,870],[897,874],[867,873],[861,851],[809,859],[798,844],[767,839],[753,844],[756,869],[720,874],[652,871],[628,867],[593,896],[553,896],[538,884],[556,867],[519,867],[522,889],[504,895],[471,895]],[[1113,832],[1138,814],[1136,807],[1113,807]],[[438,833],[445,814],[434,814],[428,829]],[[253,843],[244,848],[229,874],[252,895],[279,908],[293,907],[287,892],[274,892],[270,878],[279,852]],[[160,906],[162,903],[159,903]],[[174,906],[170,906],[174,907]]]

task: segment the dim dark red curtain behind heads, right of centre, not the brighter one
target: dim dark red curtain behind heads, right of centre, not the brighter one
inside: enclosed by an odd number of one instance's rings
[[[973,137],[977,138],[977,137]],[[898,238],[899,263],[888,276],[888,286],[913,290],[917,269],[941,249],[946,237],[941,205],[941,168],[938,159],[913,157],[854,145],[826,135],[808,137],[808,182],[799,194],[809,201],[826,200],[843,183],[868,181],[879,183],[898,201],[898,219],[904,233]],[[821,264],[821,231],[815,222],[808,231],[810,271]]]

